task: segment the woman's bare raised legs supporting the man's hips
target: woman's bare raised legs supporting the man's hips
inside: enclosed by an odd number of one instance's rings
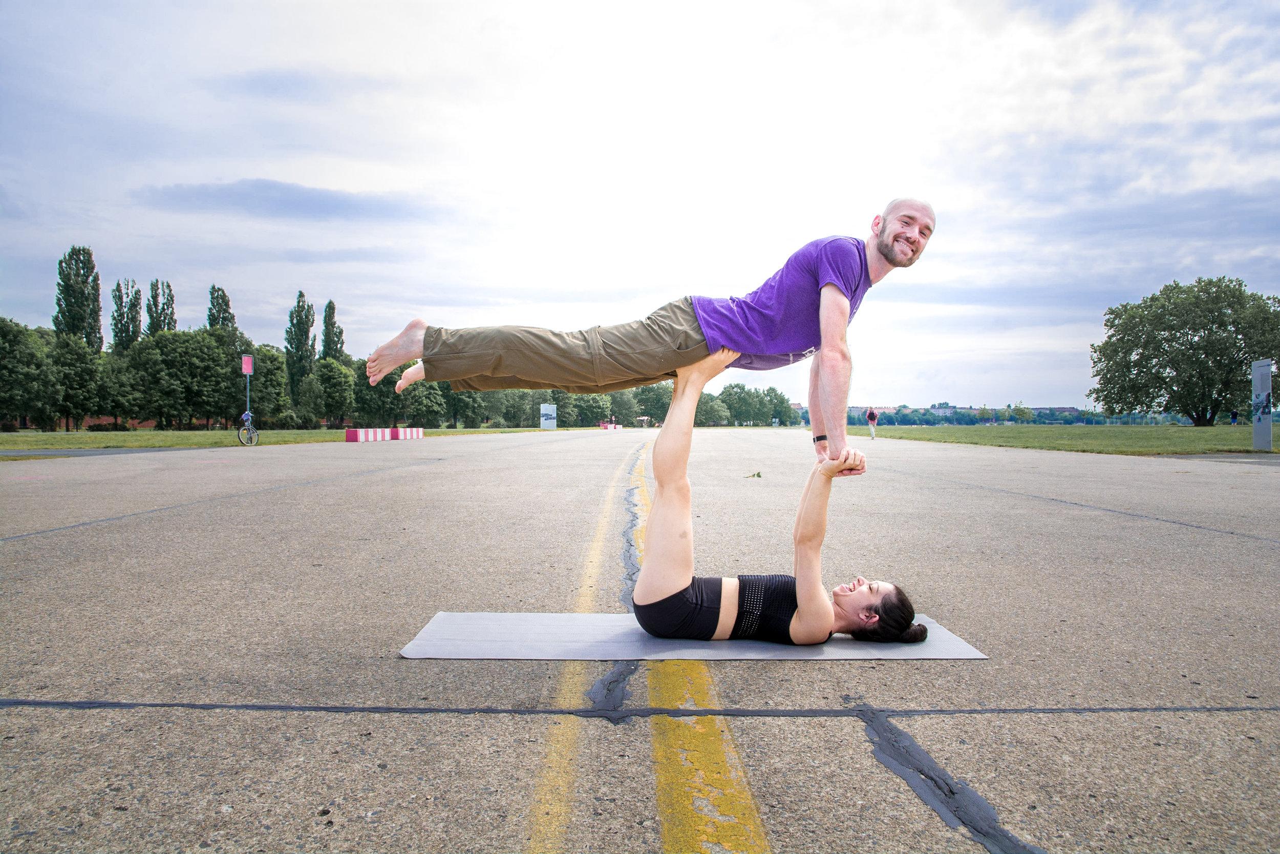
[[[676,371],[667,420],[653,443],[657,489],[645,528],[644,561],[632,599],[649,604],[689,586],[694,579],[694,519],[689,487],[689,446],[694,414],[707,382],[728,367],[739,353],[721,350]]]

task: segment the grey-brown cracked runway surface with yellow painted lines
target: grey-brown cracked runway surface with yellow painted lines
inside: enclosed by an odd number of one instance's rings
[[[655,435],[0,467],[0,846],[1280,848],[1267,461],[868,442],[828,583],[989,661],[397,657],[438,611],[625,611]],[[700,574],[790,571],[810,457],[695,431]]]

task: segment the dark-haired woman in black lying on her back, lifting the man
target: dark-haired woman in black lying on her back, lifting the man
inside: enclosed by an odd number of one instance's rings
[[[644,562],[631,597],[636,620],[658,638],[772,640],[820,644],[833,632],[859,640],[915,643],[928,630],[913,625],[915,608],[900,588],[859,576],[831,592],[822,586],[822,542],[827,534],[831,479],[863,474],[867,460],[846,449],[840,460],[814,465],[800,497],[792,539],[795,575],[694,577],[689,446],[703,387],[737,359],[722,350],[676,371],[671,408],[653,446],[657,481],[645,531]]]

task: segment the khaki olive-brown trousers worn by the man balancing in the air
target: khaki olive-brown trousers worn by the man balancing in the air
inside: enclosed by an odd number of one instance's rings
[[[580,332],[534,326],[428,326],[422,369],[456,392],[559,388],[617,392],[671,379],[705,359],[707,338],[692,300],[668,302],[644,320]]]

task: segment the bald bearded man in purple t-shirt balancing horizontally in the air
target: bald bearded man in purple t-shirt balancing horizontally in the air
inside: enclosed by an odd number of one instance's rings
[[[732,367],[768,370],[814,356],[809,421],[819,457],[845,449],[852,361],[846,341],[867,291],[896,266],[911,266],[933,234],[933,209],[895,198],[872,219],[870,237],[824,237],[803,246],[745,297],[685,297],[644,320],[562,333],[531,326],[445,329],[412,320],[374,351],[369,383],[421,361],[396,384],[449,380],[454,391],[561,388],[611,392],[675,376],[722,347]],[[828,429],[829,428],[829,429]]]

